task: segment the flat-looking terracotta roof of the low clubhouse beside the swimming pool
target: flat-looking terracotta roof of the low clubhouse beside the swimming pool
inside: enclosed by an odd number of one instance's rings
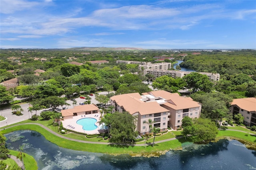
[[[73,113],[96,111],[96,110],[99,110],[99,108],[94,104],[81,105],[81,106],[75,106],[74,109],[61,110],[61,115],[63,117],[66,117],[66,116],[73,116],[74,115]]]

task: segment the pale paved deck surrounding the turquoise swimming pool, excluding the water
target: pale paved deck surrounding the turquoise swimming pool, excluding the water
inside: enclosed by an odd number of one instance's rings
[[[98,115],[98,117],[97,117]],[[83,119],[83,118],[94,118],[97,120],[97,122],[95,123],[98,127],[94,130],[84,130],[82,125],[78,125],[76,123],[76,121],[78,121],[79,119]],[[89,115],[78,115],[78,116],[73,116],[73,119],[66,119],[64,121],[62,121],[62,125],[64,128],[66,129],[70,129],[70,130],[74,130],[76,132],[82,132],[82,133],[86,133],[86,134],[99,134],[100,133],[100,128],[99,128],[99,122],[100,121],[100,113],[94,113],[94,114],[89,114]],[[70,126],[74,128],[71,128]]]

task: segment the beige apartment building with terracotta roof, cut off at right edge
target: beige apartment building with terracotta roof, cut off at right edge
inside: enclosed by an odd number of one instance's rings
[[[230,113],[240,113],[244,117],[244,125],[256,126],[256,97],[234,99],[231,103]]]

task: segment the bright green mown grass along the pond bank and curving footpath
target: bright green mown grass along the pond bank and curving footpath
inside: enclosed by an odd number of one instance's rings
[[[98,153],[104,153],[104,154],[112,154],[112,155],[119,155],[119,154],[130,154],[131,156],[145,156],[145,157],[151,157],[151,156],[160,156],[162,154],[165,154],[166,152],[168,152],[169,150],[180,150],[182,149],[182,144],[184,144],[185,142],[188,142],[185,140],[185,138],[179,138],[179,139],[175,139],[175,140],[170,140],[167,142],[161,142],[161,143],[157,143],[154,144],[154,147],[152,147],[151,145],[147,145],[147,147],[145,148],[144,145],[143,146],[121,146],[121,145],[112,145],[112,144],[90,144],[90,143],[83,143],[83,142],[76,142],[76,141],[72,141],[72,140],[68,140],[68,139],[64,139],[61,138],[59,136],[56,136],[54,134],[52,134],[51,132],[48,132],[46,129],[40,127],[39,125],[19,125],[22,123],[39,123],[41,125],[44,125],[47,128],[50,128],[51,130],[53,130],[54,132],[58,131],[58,127],[54,127],[52,126],[52,122],[51,121],[30,121],[30,120],[26,120],[26,121],[22,121],[20,123],[16,123],[16,126],[11,127],[13,125],[8,125],[4,130],[1,130],[1,132],[3,134],[12,132],[12,131],[16,131],[16,130],[34,130],[36,132],[39,132],[40,134],[42,134],[46,140],[57,144],[58,146],[62,147],[62,148],[68,148],[68,149],[72,149],[72,150],[79,150],[79,151],[85,151],[85,152],[98,152]],[[7,128],[9,127],[9,128]],[[234,129],[234,130],[242,130],[244,132],[238,132],[238,131],[231,131],[231,130],[220,130],[216,140],[218,141],[220,139],[235,139],[238,140],[239,142],[242,142],[243,144],[245,144],[245,146],[248,149],[251,150],[256,150],[256,132],[252,132],[251,130],[248,130],[246,128],[242,128],[242,127],[229,127],[230,129]],[[168,133],[165,133],[161,136],[156,136],[156,140],[155,141],[160,141],[160,140],[164,140],[167,138],[172,138],[174,136],[179,136],[181,131],[171,131]],[[252,133],[252,134],[250,134]],[[60,133],[59,133],[60,134]],[[60,134],[61,136],[66,136],[69,138],[73,138],[73,139],[78,139],[78,140],[82,140],[82,141],[88,141],[88,142],[106,142],[106,141],[101,141],[98,138],[85,138],[83,135],[79,135],[79,134]],[[99,141],[100,140],[100,141]],[[150,138],[149,140],[146,140],[146,143],[152,143],[152,138]],[[144,144],[144,141],[141,142],[137,142],[136,144]],[[10,151],[11,154],[15,155],[14,153],[16,151]],[[32,156],[31,156],[32,157]],[[35,160],[32,157],[29,161],[24,160],[25,162],[25,167],[26,166],[36,166],[35,164]]]

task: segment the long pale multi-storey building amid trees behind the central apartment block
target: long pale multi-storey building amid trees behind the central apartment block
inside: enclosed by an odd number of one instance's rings
[[[155,78],[163,76],[163,75],[170,75],[172,78],[180,77],[182,78],[185,75],[192,73],[192,71],[176,71],[176,70],[163,70],[163,69],[144,69],[143,75],[152,74]],[[200,74],[207,75],[209,80],[211,81],[219,81],[220,74],[219,73],[204,73],[198,72]]]

